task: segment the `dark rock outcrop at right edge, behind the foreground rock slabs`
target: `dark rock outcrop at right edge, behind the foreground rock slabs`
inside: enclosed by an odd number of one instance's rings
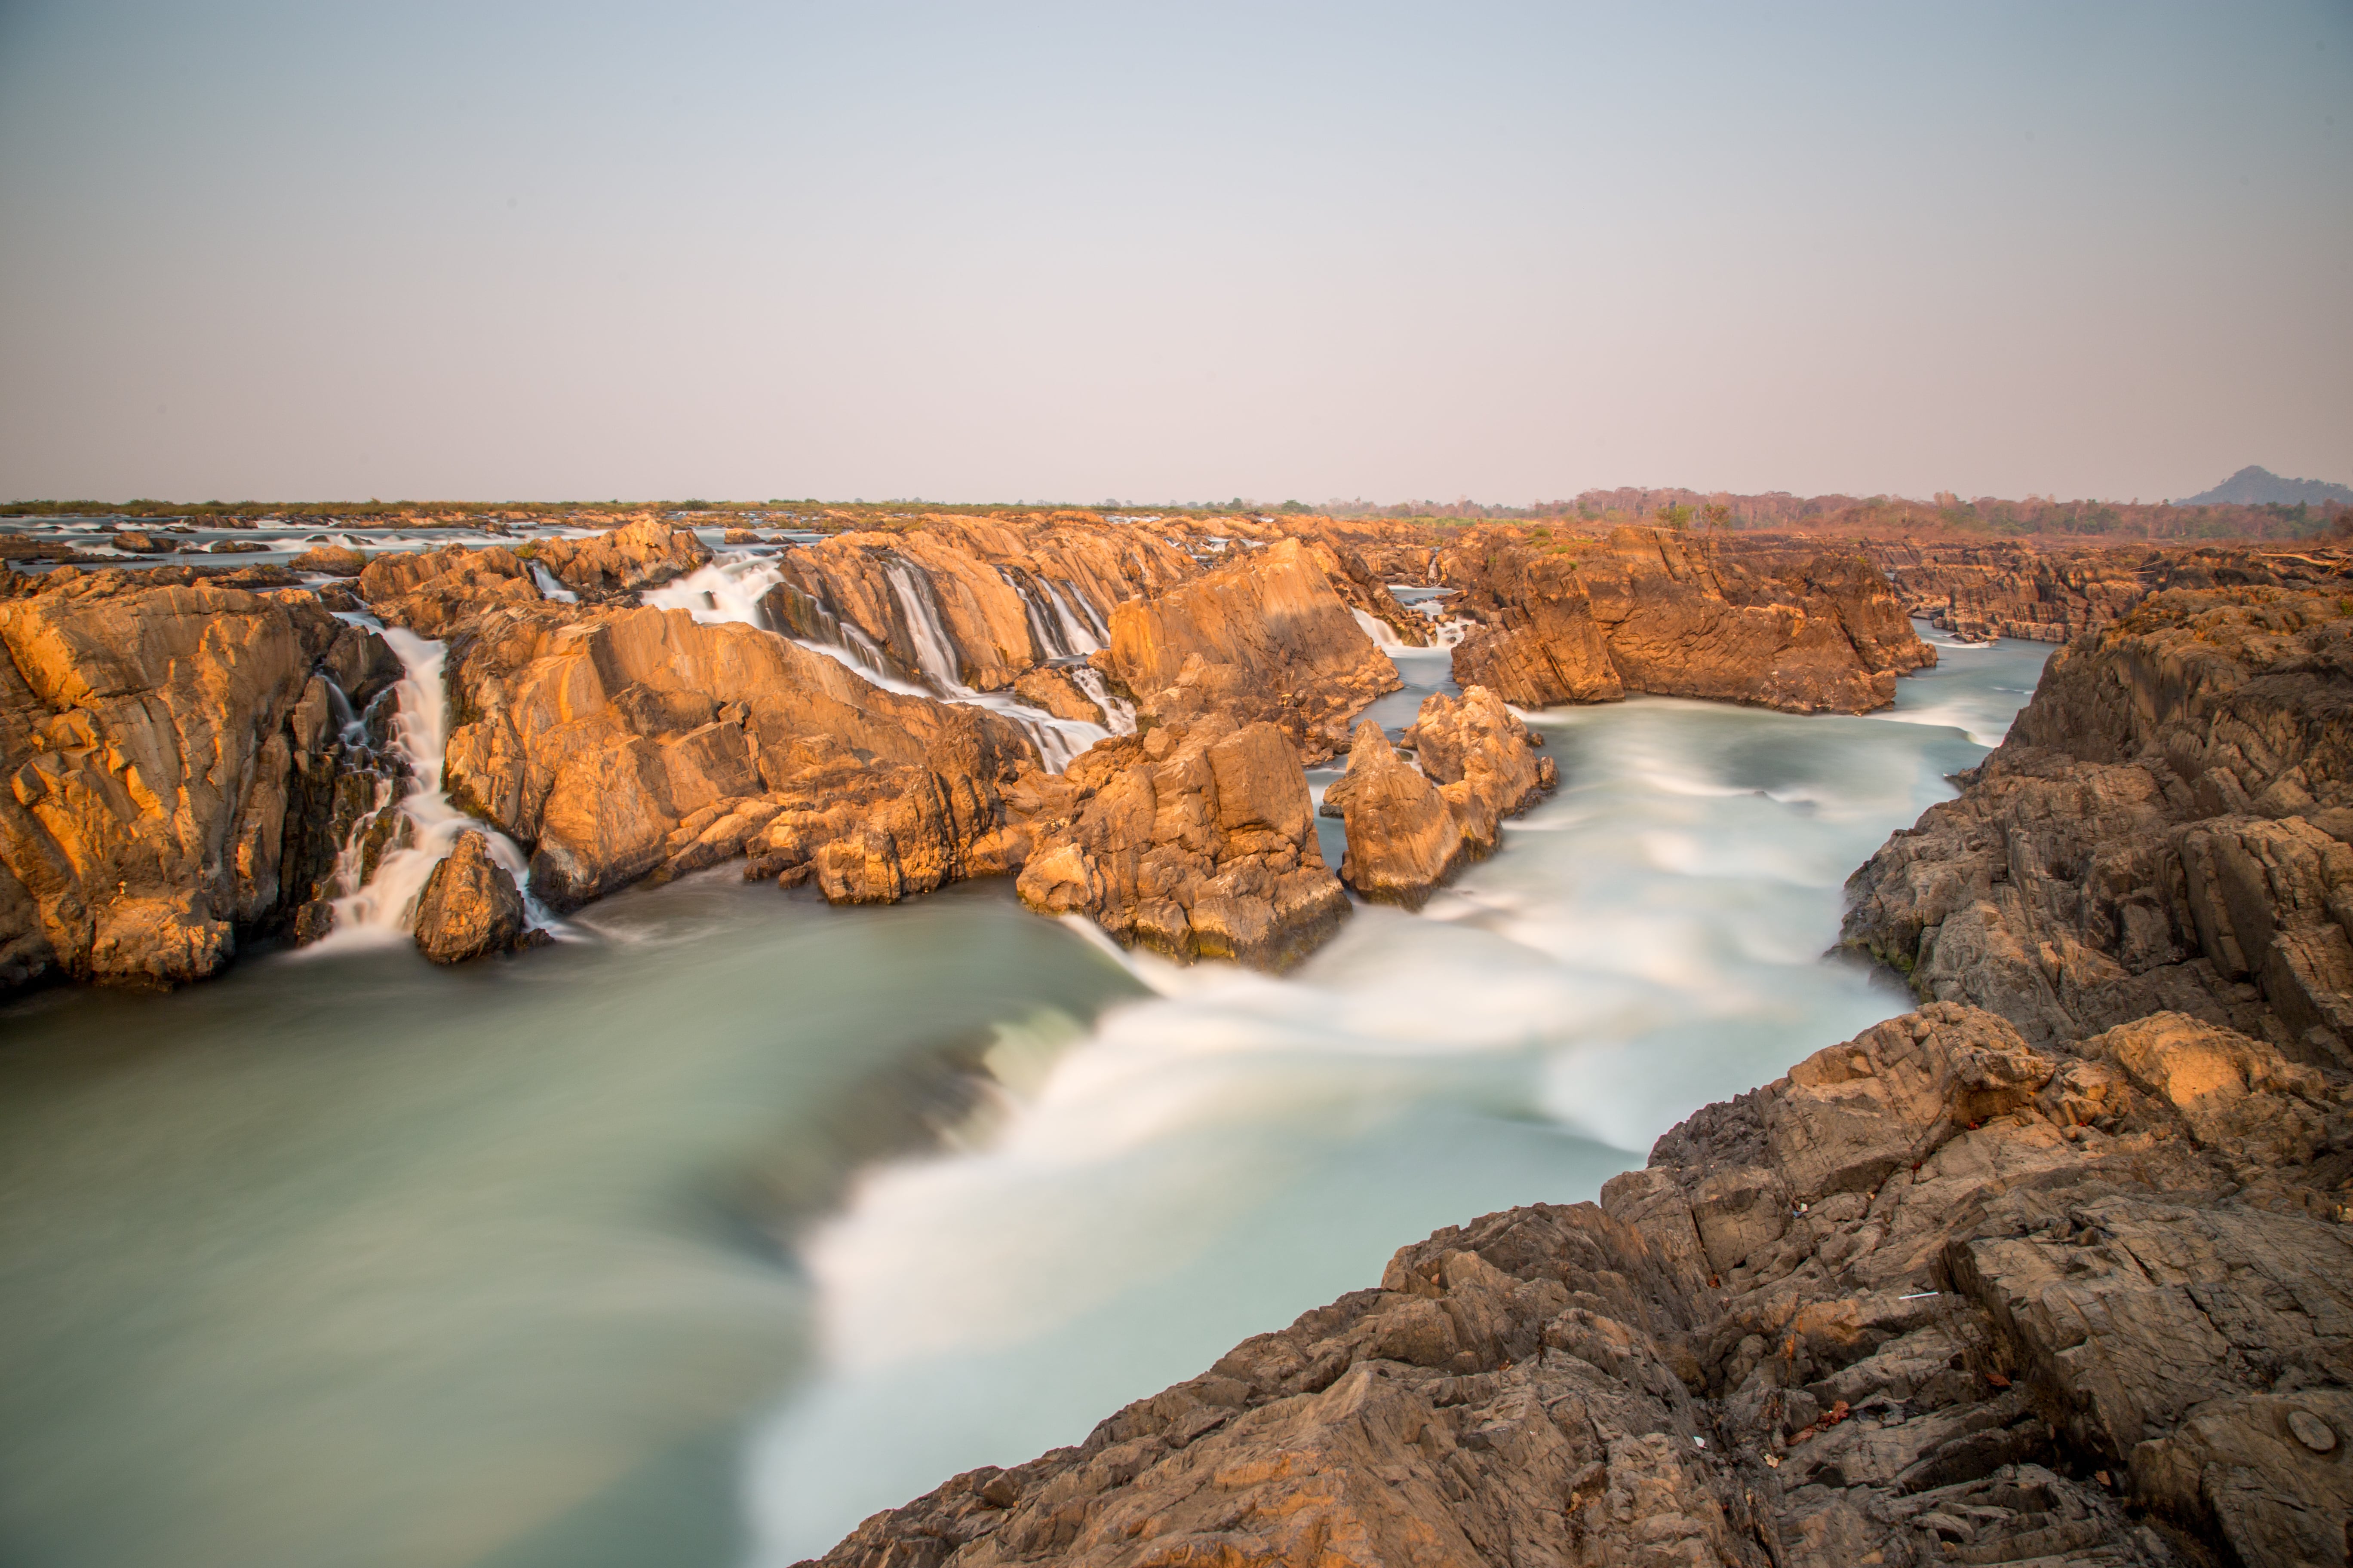
[[[2169,590],[2052,658],[1960,799],[1854,875],[1845,940],[2038,1044],[2172,1009],[2341,1065],[2344,839],[2341,597]]]

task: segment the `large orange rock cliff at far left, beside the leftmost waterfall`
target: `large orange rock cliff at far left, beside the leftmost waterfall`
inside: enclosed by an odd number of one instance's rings
[[[0,985],[169,985],[311,896],[329,682],[398,663],[306,592],[59,569],[0,599]]]

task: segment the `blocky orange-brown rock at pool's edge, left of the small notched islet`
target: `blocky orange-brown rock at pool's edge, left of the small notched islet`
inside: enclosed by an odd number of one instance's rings
[[[1299,752],[1264,719],[1162,724],[1024,785],[1033,846],[1016,886],[1042,914],[1085,914],[1176,959],[1285,969],[1348,912]]]

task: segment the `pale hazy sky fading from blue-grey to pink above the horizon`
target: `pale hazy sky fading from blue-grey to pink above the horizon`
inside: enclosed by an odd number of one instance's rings
[[[2353,482],[2353,5],[0,0],[0,496]]]

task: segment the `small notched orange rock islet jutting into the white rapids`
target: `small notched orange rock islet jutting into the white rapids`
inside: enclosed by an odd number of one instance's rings
[[[1518,816],[1560,780],[1541,738],[1492,691],[1461,701],[1424,698],[1400,741],[1365,719],[1348,745],[1348,773],[1325,790],[1322,813],[1348,827],[1341,882],[1365,898],[1421,907],[1468,860],[1494,853],[1506,816]]]

